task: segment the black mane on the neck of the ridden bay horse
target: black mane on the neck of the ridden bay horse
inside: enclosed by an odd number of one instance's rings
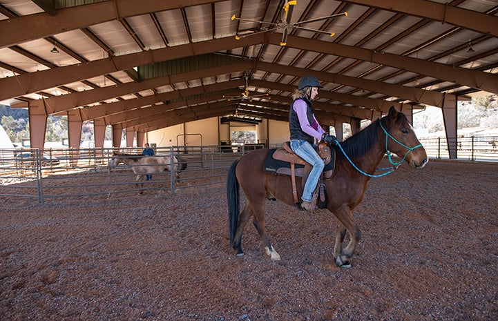
[[[344,152],[350,159],[358,159],[363,157],[369,150],[372,149],[379,139],[381,130],[379,130],[381,119],[378,118],[363,130],[352,135],[341,143]],[[336,153],[338,158],[344,159],[343,153]]]

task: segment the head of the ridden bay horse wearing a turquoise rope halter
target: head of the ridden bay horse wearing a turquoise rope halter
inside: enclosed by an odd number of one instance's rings
[[[392,106],[387,116],[383,117],[379,124],[386,135],[385,148],[392,164],[394,163],[391,160],[390,152],[401,157],[401,162],[396,164],[406,161],[413,168],[422,168],[427,164],[428,157],[425,148],[416,137],[414,128],[405,114],[398,112]]]

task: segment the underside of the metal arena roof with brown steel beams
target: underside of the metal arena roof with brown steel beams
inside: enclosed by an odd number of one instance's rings
[[[495,0],[0,0],[0,102],[142,132],[287,121],[314,75],[325,125],[445,108],[498,94],[497,12]]]

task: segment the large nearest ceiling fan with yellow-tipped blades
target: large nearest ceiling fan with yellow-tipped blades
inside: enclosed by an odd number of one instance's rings
[[[327,32],[324,30],[305,28],[301,25],[303,25],[303,23],[320,21],[320,20],[325,20],[325,19],[334,18],[334,17],[341,17],[341,16],[347,17],[347,12],[341,12],[338,14],[331,14],[327,17],[321,17],[321,18],[309,19],[309,20],[305,20],[305,21],[291,23],[292,10],[294,9],[294,6],[296,6],[296,3],[297,3],[297,1],[285,1],[284,6],[282,7],[281,20],[278,23],[257,21],[257,20],[251,20],[251,19],[242,19],[242,18],[237,18],[235,16],[235,14],[233,14],[233,16],[231,17],[232,20],[256,22],[256,23],[262,23],[262,24],[269,25],[269,28],[266,28],[265,30],[251,32],[251,33],[246,34],[246,35],[236,35],[235,38],[237,40],[240,40],[241,38],[244,38],[247,36],[258,35],[262,32],[275,31],[275,30],[281,30],[281,29],[283,29],[283,35],[282,35],[282,41],[280,41],[280,46],[287,45],[287,34],[289,33],[289,31],[291,31],[293,29],[318,32],[318,33],[322,33],[324,35],[329,35],[330,37],[334,37],[334,35],[336,35],[335,32]]]

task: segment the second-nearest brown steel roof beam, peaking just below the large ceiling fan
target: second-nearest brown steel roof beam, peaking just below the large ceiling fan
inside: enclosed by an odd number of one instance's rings
[[[421,59],[402,57],[400,55],[393,55],[385,52],[375,52],[374,50],[355,48],[338,43],[329,43],[327,41],[318,41],[303,37],[294,37],[291,35],[288,36],[288,39],[289,43],[287,46],[292,46],[293,48],[323,52],[327,55],[343,55],[345,57],[352,57],[364,61],[372,61],[377,64],[410,70],[437,79],[486,90],[490,93],[498,93],[498,88],[495,86],[498,81],[498,75],[489,72],[447,66],[433,61],[423,61]],[[3,88],[0,93],[0,101],[19,97],[28,93],[36,93],[37,91],[56,87],[61,84],[68,84],[81,79],[96,77],[103,73],[133,68],[133,66],[188,57],[189,55],[200,55],[202,53],[226,50],[227,48],[251,46],[253,44],[262,43],[264,40],[264,37],[261,35],[246,37],[240,39],[240,41],[237,41],[232,37],[225,37],[212,41],[189,43],[183,46],[149,50],[147,52],[122,55],[119,57],[108,57],[106,59],[90,61],[84,65],[64,66],[17,75],[16,77],[8,77],[0,79],[0,88]],[[280,35],[270,35],[269,41],[270,43],[278,45],[280,43]],[[338,81],[337,84],[341,84],[341,82]],[[348,86],[360,87],[358,84]]]

